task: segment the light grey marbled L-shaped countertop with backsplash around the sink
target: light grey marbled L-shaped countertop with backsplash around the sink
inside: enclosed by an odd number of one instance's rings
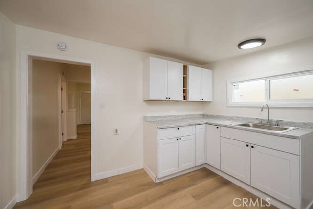
[[[168,118],[168,119],[167,119]],[[155,126],[158,129],[163,128],[174,128],[179,126],[189,126],[189,125],[200,125],[200,124],[209,124],[209,125],[217,125],[228,128],[236,128],[245,131],[252,131],[262,134],[269,134],[293,139],[300,139],[301,136],[306,135],[310,132],[313,132],[313,129],[309,128],[297,128],[287,132],[276,132],[270,130],[263,130],[258,128],[250,128],[244,126],[236,126],[232,124],[242,123],[243,119],[233,118],[237,120],[232,120],[229,117],[220,117],[220,116],[210,116],[210,115],[202,115],[202,114],[190,114],[185,116],[146,116],[144,117],[144,123]],[[255,119],[255,118],[254,118]],[[251,118],[246,118],[245,122],[255,122],[251,121]],[[307,124],[307,123],[306,123]],[[299,123],[299,126],[301,124]],[[284,126],[284,125],[282,125]],[[293,126],[293,127],[299,127]]]

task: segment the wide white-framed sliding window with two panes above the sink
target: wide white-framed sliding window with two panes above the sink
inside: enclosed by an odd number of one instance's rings
[[[313,107],[313,70],[227,84],[228,106]]]

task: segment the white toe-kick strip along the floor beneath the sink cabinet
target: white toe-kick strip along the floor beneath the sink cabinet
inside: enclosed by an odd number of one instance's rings
[[[266,194],[266,193],[264,193],[264,192],[262,192],[262,191],[260,191],[260,190],[258,190],[256,188],[254,188],[252,186],[247,185],[246,183],[244,183],[244,182],[242,182],[242,181],[240,181],[240,180],[238,180],[238,179],[236,179],[236,178],[234,178],[234,177],[224,173],[221,170],[216,169],[215,167],[213,167],[211,165],[205,164],[204,167],[206,167],[210,171],[213,171],[214,173],[222,176],[223,178],[227,179],[228,181],[234,183],[235,185],[238,185],[238,186],[242,187],[243,189],[251,192],[252,194],[254,194],[254,195],[256,195],[256,196],[258,196],[258,197],[260,197],[260,198],[262,198],[264,200],[266,198],[270,198],[270,201],[269,201],[270,204],[272,204],[273,206],[276,206],[279,209],[292,209],[292,207],[290,207],[289,205],[286,205],[285,203],[283,203],[283,202],[281,202],[281,201],[279,201],[279,200],[269,196],[268,194]]]

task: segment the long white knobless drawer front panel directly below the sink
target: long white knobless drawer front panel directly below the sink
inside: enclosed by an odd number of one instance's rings
[[[239,141],[260,145],[283,152],[289,152],[296,155],[299,155],[300,153],[299,139],[291,139],[226,127],[221,127],[221,137],[236,139]]]

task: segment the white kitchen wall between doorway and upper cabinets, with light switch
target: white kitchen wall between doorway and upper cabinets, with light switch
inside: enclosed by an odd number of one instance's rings
[[[21,76],[21,50],[94,60],[96,174],[142,166],[142,116],[203,111],[200,102],[142,101],[143,61],[149,54],[19,25],[16,30],[17,79]],[[67,43],[67,51],[56,48],[58,41]],[[100,102],[105,103],[104,110],[100,110]],[[120,134],[113,135],[113,128],[119,128]]]

